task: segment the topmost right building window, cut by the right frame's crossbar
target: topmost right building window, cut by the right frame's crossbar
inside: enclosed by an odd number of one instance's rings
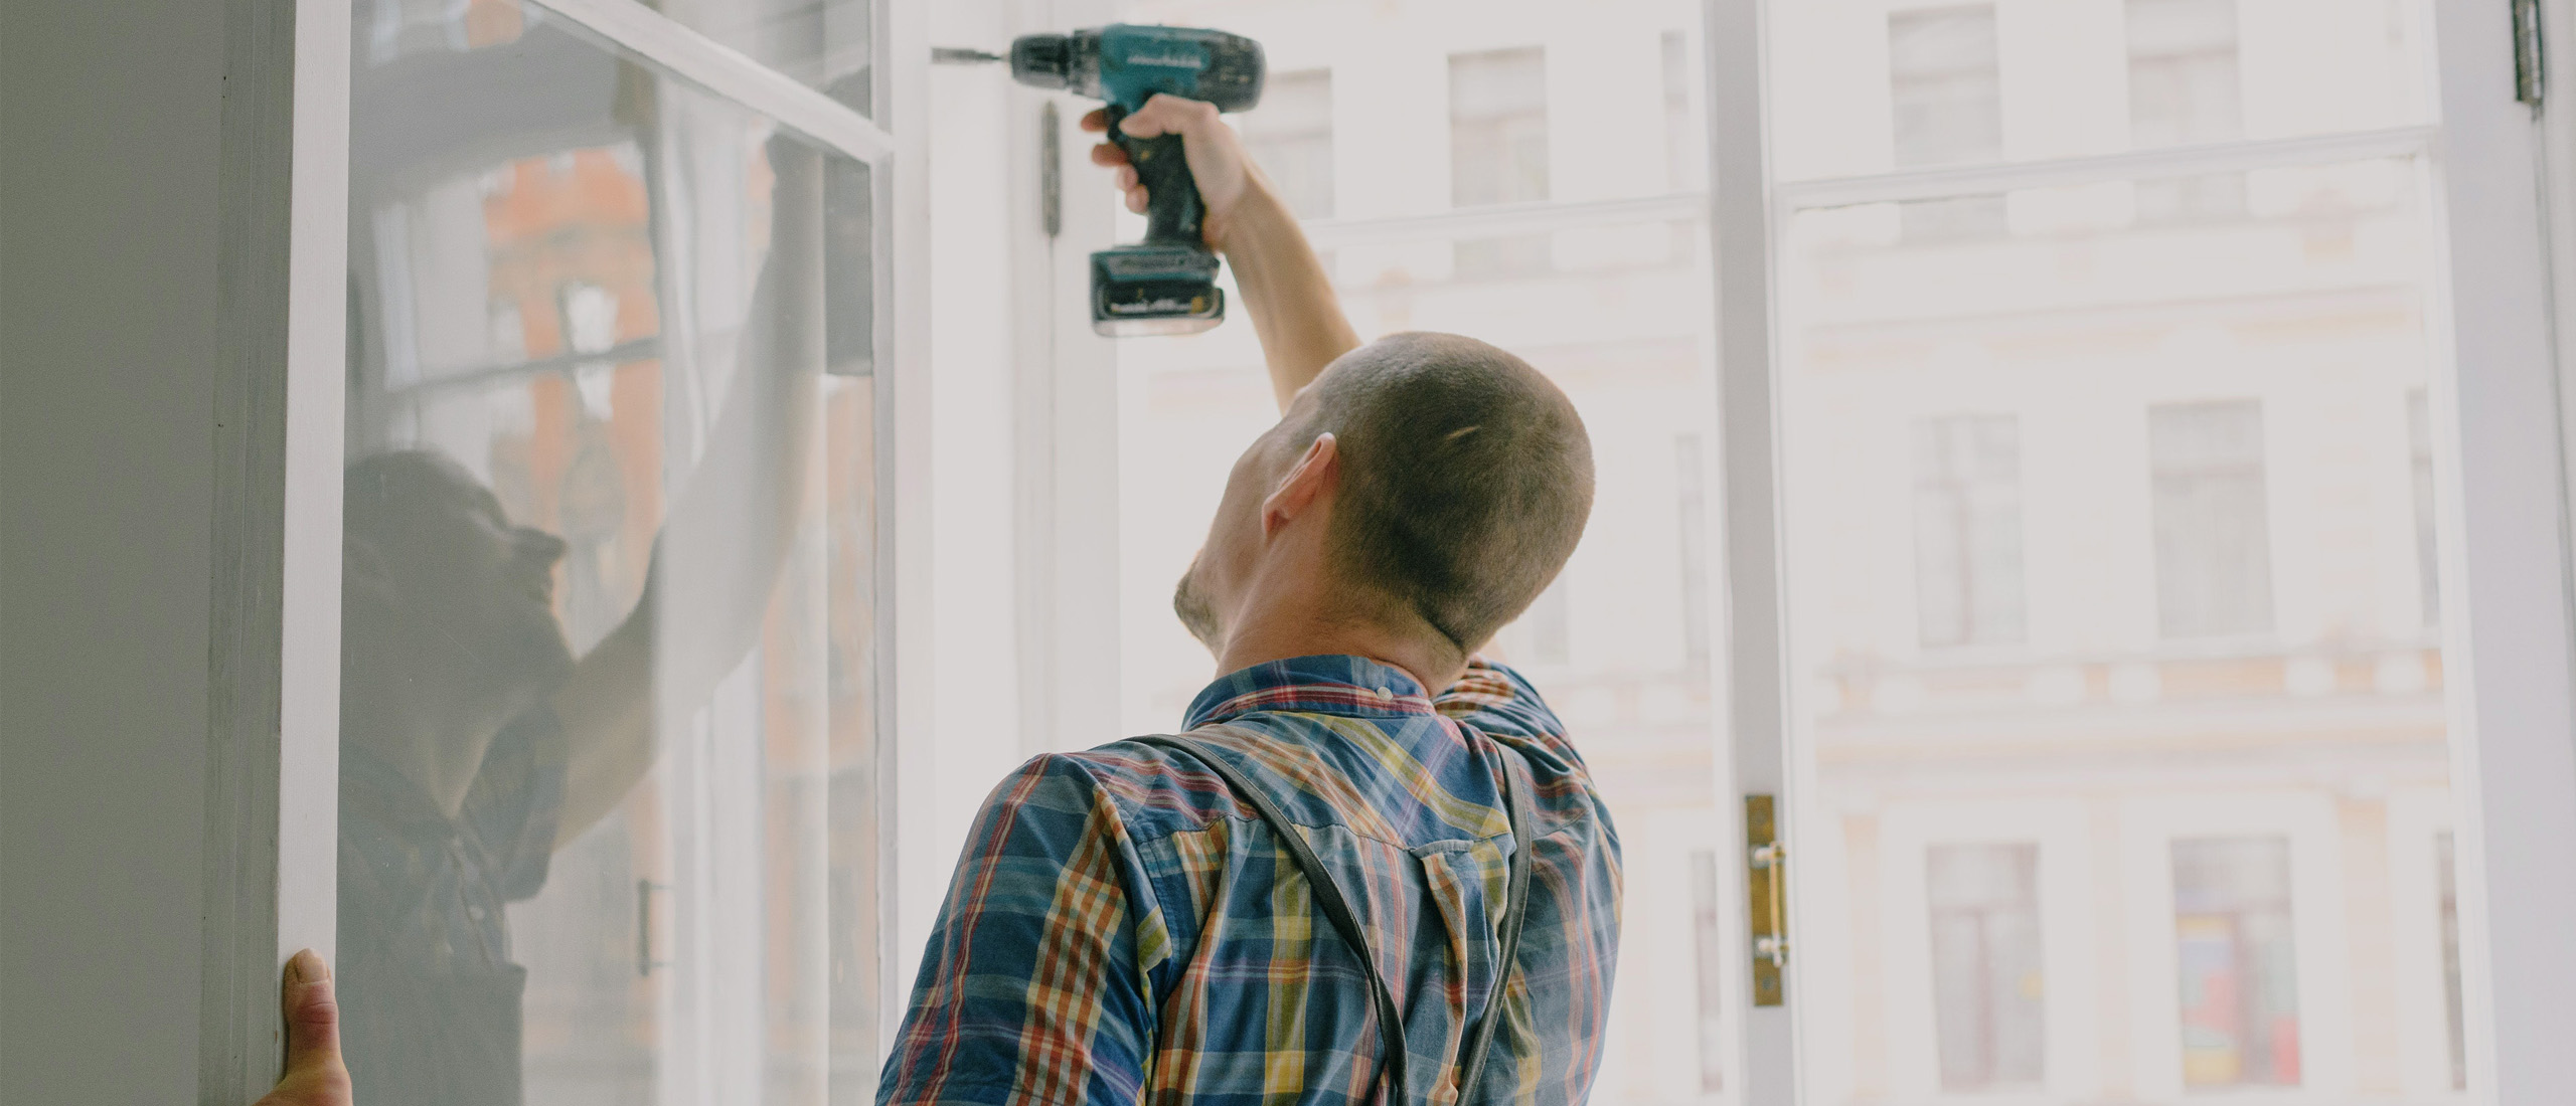
[[[2138,147],[2244,136],[2236,0],[2128,0],[2128,131]],[[2241,172],[2141,180],[2138,221],[2239,216]]]

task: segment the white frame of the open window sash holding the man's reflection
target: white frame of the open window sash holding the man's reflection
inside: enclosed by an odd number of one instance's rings
[[[636,0],[528,0],[611,46],[804,139],[871,167],[876,226],[876,743],[886,784],[878,818],[881,1047],[894,1039],[912,977],[899,949],[896,908],[912,872],[899,841],[925,839],[927,805],[912,782],[927,772],[927,0],[871,0],[876,87],[868,118]],[[250,430],[234,445],[240,473],[219,478],[219,545],[240,545],[242,594],[219,599],[240,622],[232,671],[245,694],[219,712],[211,736],[206,959],[198,1085],[204,1101],[252,1101],[278,1070],[278,967],[294,949],[335,949],[340,779],[340,468],[345,404],[345,270],[350,157],[353,0],[234,0],[227,69],[245,95],[227,95],[227,234],[245,286],[234,293],[250,327],[227,358],[234,406]],[[265,100],[263,100],[265,98]],[[240,152],[234,152],[240,149]],[[273,203],[283,216],[263,221]],[[240,208],[240,213],[234,211]],[[273,329],[263,329],[273,327]],[[263,350],[283,350],[283,358]],[[281,401],[283,399],[283,401]],[[283,414],[276,414],[283,412]],[[263,435],[265,430],[265,435]],[[224,502],[229,499],[229,504]],[[229,507],[229,509],[227,509]],[[263,604],[265,563],[283,586]],[[227,607],[229,604],[229,607]],[[260,648],[260,640],[276,651]],[[270,689],[260,694],[260,689]],[[270,697],[273,694],[273,697]],[[273,725],[273,741],[260,730]],[[224,844],[224,846],[214,846]],[[935,893],[935,887],[933,887]]]

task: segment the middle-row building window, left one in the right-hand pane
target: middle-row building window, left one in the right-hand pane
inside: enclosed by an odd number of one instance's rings
[[[2009,414],[1914,427],[1914,604],[1924,646],[2022,640],[2022,450]]]

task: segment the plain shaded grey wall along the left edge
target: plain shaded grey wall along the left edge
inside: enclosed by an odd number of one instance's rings
[[[198,1088],[222,3],[0,8],[0,1101]]]

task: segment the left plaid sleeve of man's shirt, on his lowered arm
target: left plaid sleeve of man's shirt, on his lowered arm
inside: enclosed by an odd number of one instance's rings
[[[1151,903],[1082,761],[1012,772],[966,836],[876,1101],[1133,1103],[1154,1044],[1136,954]]]

